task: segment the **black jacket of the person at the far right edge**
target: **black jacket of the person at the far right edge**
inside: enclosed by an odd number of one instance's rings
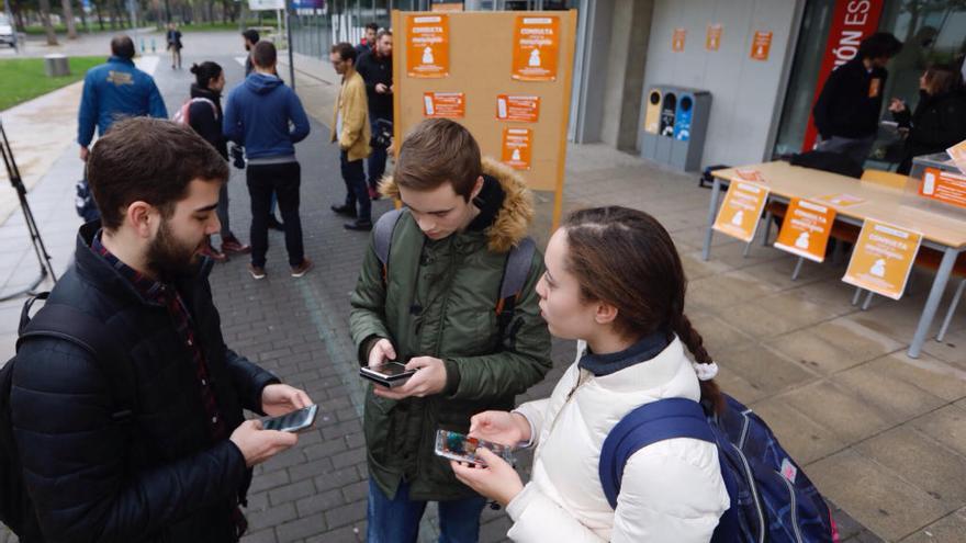
[[[931,97],[922,91],[912,114],[905,110],[892,117],[899,126],[909,128],[897,170],[909,173],[913,157],[944,151],[966,139],[966,93]]]

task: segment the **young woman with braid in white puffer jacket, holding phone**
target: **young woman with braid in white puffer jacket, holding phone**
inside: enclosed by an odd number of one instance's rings
[[[577,361],[550,398],[473,417],[470,435],[537,446],[530,483],[482,451],[488,467],[457,477],[506,507],[516,542],[708,542],[729,507],[717,448],[678,438],[636,452],[611,509],[600,448],[632,409],[663,398],[721,407],[717,366],[684,315],[685,276],[667,231],[626,207],[577,212],[547,246],[537,285],[551,333],[579,339]],[[684,347],[697,362],[684,353]],[[698,378],[698,373],[703,380]]]

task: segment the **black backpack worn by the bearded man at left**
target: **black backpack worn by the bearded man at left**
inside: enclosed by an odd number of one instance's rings
[[[47,299],[50,293],[44,292],[23,304],[18,328],[16,351],[25,341],[36,338],[57,338],[69,341],[94,355],[99,363],[105,364],[105,374],[111,380],[116,405],[120,409],[112,418],[117,422],[131,419],[134,406],[134,374],[120,352],[120,347],[108,328],[100,320],[66,304],[45,304],[31,318],[30,310],[37,299]],[[16,355],[0,369],[0,522],[13,533],[23,538],[26,534],[40,538],[33,504],[26,494],[23,480],[23,466],[13,437],[13,420],[10,411],[10,393],[13,384],[13,367]]]

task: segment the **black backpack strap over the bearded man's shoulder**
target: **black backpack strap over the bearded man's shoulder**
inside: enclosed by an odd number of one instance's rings
[[[45,304],[34,318],[30,318],[34,302],[47,299],[49,294],[41,293],[23,304],[16,350],[20,351],[24,341],[36,338],[56,338],[85,349],[100,364],[120,405],[120,410],[112,417],[115,420],[131,417],[134,408],[134,373],[110,328],[101,320],[67,304]]]

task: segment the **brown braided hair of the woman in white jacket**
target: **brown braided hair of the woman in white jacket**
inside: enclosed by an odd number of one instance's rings
[[[585,301],[617,307],[614,325],[628,338],[674,332],[695,361],[710,364],[701,336],[684,314],[687,280],[674,241],[654,217],[620,206],[575,212],[563,225],[568,268]],[[701,400],[720,412],[724,401],[714,381],[701,381]]]

